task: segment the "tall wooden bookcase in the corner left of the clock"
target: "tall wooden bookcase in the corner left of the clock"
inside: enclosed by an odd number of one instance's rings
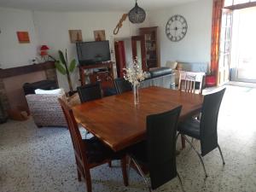
[[[140,28],[140,35],[143,36],[143,64],[149,69],[159,67],[159,56],[157,52],[157,26]]]

